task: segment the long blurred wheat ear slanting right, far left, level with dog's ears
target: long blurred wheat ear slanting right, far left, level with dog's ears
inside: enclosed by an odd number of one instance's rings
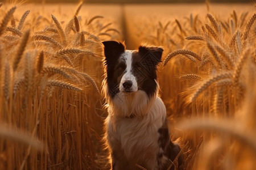
[[[15,57],[14,57],[14,63],[13,63],[13,70],[15,71],[18,67],[18,64],[20,62],[20,59],[22,57],[22,54],[26,48],[28,37],[30,36],[30,30],[26,31],[24,35],[22,36],[22,39],[19,43],[18,50],[16,51]]]

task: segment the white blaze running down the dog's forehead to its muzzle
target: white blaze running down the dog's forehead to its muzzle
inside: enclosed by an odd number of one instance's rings
[[[138,84],[137,84],[136,78],[133,75],[133,73],[131,72],[131,69],[133,69],[133,67],[131,65],[132,60],[133,60],[132,53],[133,53],[132,50],[126,50],[122,56],[126,62],[125,74],[123,74],[121,82],[119,84],[119,90],[122,92],[127,91],[127,89],[125,87],[123,87],[123,83],[129,82],[129,81],[132,83],[131,87],[129,88],[129,91],[130,92],[138,91]]]

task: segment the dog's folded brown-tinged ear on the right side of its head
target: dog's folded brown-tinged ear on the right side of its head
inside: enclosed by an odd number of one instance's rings
[[[150,57],[151,61],[154,62],[155,65],[157,65],[159,62],[161,62],[161,57],[163,54],[163,49],[157,46],[139,46],[139,54],[141,54],[142,57]]]

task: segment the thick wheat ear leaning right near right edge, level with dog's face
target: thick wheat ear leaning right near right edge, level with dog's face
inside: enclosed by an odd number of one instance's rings
[[[245,63],[246,59],[249,57],[249,52],[250,50],[247,49],[243,55],[240,57],[239,61],[237,62],[237,65],[234,69],[234,73],[233,73],[233,81],[234,81],[234,84],[238,84],[238,80],[240,78],[240,74],[241,74],[241,71],[242,71],[242,67],[243,67],[243,64]]]

